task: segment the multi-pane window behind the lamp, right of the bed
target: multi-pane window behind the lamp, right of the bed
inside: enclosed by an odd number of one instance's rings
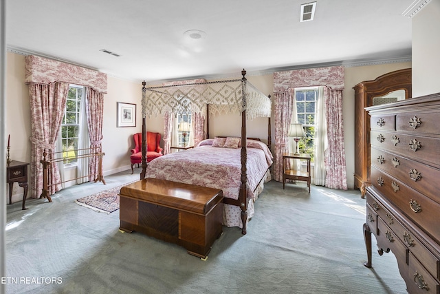
[[[299,142],[299,148],[311,156],[314,162],[315,117],[318,110],[318,87],[295,89],[296,114],[298,123],[302,123],[306,134]]]

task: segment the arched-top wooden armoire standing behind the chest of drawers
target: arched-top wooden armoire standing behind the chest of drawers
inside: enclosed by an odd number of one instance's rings
[[[405,91],[405,98],[411,98],[412,70],[396,70],[355,85],[355,188],[365,196],[370,185],[370,118],[365,107],[382,104],[381,97],[398,90]]]

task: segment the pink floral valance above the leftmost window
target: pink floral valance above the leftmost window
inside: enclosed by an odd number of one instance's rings
[[[107,74],[103,72],[35,55],[25,57],[25,83],[49,85],[54,82],[83,85],[107,93]]]

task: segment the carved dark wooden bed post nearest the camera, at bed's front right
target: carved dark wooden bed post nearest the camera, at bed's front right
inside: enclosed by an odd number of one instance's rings
[[[246,99],[246,71],[241,71],[241,87],[243,93],[243,105],[245,105]],[[246,109],[241,112],[241,186],[240,186],[240,208],[241,208],[241,222],[243,228],[241,233],[246,234],[246,227],[248,223],[248,169],[246,164],[248,162],[248,149],[246,141]]]

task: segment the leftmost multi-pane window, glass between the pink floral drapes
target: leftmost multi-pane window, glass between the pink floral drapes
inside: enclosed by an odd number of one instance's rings
[[[63,158],[65,164],[76,163],[76,150],[78,149],[78,136],[80,129],[80,101],[84,88],[70,85],[67,94],[66,108],[61,123],[61,140],[63,145]]]

